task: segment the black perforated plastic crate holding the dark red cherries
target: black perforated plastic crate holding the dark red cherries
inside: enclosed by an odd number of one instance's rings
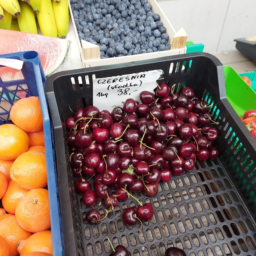
[[[69,163],[65,127],[66,118],[72,116],[69,106],[76,109],[93,103],[94,75],[104,78],[156,69],[164,72],[159,82],[176,83],[177,91],[193,87],[198,96],[213,103],[210,112],[220,122],[216,126],[220,158],[197,161],[192,172],[160,183],[155,197],[136,193],[154,206],[154,217],[144,223],[143,232],[139,232],[140,226],[126,226],[121,219],[124,209],[138,206],[133,199],[119,202],[99,224],[87,224],[83,219],[88,208],[75,193]],[[106,236],[114,247],[123,244],[135,256],[164,255],[170,246],[184,248],[189,256],[256,255],[256,140],[227,101],[223,66],[218,59],[192,53],[61,72],[47,80],[46,91],[54,125],[66,255],[108,255],[111,249]],[[103,214],[104,208],[99,210]]]

